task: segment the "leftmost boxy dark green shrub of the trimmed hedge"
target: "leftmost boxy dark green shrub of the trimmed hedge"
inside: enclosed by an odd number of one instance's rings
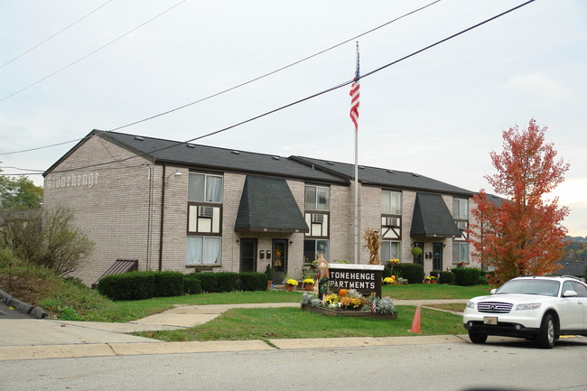
[[[154,296],[154,272],[106,275],[98,283],[98,293],[111,300],[144,300]]]

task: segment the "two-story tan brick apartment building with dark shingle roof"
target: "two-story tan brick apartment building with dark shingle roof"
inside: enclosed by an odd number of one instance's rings
[[[45,207],[73,209],[96,243],[76,273],[194,269],[300,277],[317,254],[354,258],[354,166],[92,131],[44,172]],[[412,172],[359,166],[359,245],[446,270],[470,262],[473,193]],[[421,256],[412,248],[421,247]],[[359,251],[359,263],[368,253]]]

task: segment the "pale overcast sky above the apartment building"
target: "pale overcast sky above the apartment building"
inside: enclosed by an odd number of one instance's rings
[[[338,86],[353,77],[353,37],[432,2],[2,0],[0,167],[44,171],[74,144],[5,153],[126,126],[351,40],[118,131],[186,141]],[[361,36],[361,74],[522,3],[441,0]],[[359,163],[493,192],[489,152],[534,117],[571,164],[556,191],[564,225],[587,236],[586,49],[587,2],[536,0],[361,79]],[[349,103],[345,86],[197,143],[353,163]]]

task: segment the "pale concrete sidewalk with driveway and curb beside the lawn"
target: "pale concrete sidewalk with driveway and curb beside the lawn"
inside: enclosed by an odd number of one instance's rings
[[[466,303],[466,300],[395,301],[396,305]],[[179,305],[129,323],[93,321],[9,320],[0,321],[0,361],[33,358],[73,358],[137,354],[193,353],[236,350],[344,348],[422,343],[465,343],[459,336],[413,336],[387,338],[331,338],[304,340],[222,340],[161,342],[126,333],[177,330],[202,324],[232,308],[299,307],[299,303],[250,303]]]

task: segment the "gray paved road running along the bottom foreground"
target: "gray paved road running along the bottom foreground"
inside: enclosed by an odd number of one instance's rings
[[[509,340],[13,360],[1,363],[0,390],[587,391],[586,347]]]

